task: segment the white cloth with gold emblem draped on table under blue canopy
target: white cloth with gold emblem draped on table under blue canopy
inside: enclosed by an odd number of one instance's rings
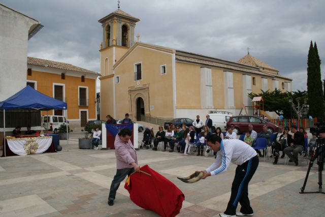
[[[18,155],[27,155],[34,153],[43,153],[51,143],[52,137],[26,137],[7,139],[8,146],[12,152]]]

